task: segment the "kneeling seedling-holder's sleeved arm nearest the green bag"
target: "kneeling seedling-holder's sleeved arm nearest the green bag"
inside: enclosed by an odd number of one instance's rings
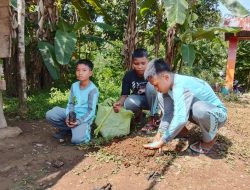
[[[96,105],[98,102],[99,92],[96,88],[91,90],[88,94],[88,111],[87,113],[77,119],[77,124],[87,123],[95,116]]]

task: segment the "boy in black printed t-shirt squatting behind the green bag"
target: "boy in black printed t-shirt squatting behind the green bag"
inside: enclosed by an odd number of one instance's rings
[[[148,53],[145,49],[136,49],[132,55],[133,69],[126,72],[122,80],[122,93],[120,99],[114,103],[115,112],[119,112],[123,106],[135,113],[140,118],[142,109],[150,110],[150,120],[142,128],[143,131],[157,129],[156,125],[156,91],[154,87],[144,79],[144,71],[148,64]]]

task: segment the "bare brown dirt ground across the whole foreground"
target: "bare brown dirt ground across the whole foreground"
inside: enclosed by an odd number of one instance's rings
[[[0,189],[250,189],[250,105],[226,105],[229,119],[209,155],[188,149],[200,138],[193,124],[187,139],[174,139],[159,152],[142,147],[154,134],[135,131],[73,146],[53,139],[55,130],[44,120],[8,119],[23,133],[0,141]]]

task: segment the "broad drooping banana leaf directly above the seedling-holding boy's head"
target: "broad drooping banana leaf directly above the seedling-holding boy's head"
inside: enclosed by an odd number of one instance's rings
[[[56,31],[55,36],[55,54],[59,64],[69,63],[72,53],[75,51],[76,34],[73,32]]]

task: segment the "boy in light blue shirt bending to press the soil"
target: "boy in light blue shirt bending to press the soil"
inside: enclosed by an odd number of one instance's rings
[[[144,145],[144,148],[161,148],[192,119],[201,128],[202,140],[190,145],[190,148],[198,153],[209,153],[216,141],[218,128],[227,119],[227,109],[208,83],[195,77],[170,72],[163,59],[152,60],[144,76],[162,93],[159,102],[164,110],[154,142]]]

